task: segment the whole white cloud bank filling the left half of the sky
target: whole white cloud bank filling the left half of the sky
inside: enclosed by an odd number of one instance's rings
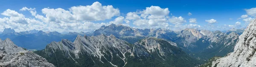
[[[38,29],[44,31],[93,31],[99,29],[102,25],[121,24],[124,21],[123,16],[119,16],[119,9],[112,5],[101,5],[95,2],[87,6],[73,6],[69,10],[62,8],[43,8],[43,15],[36,14],[35,8],[23,7],[20,11],[29,11],[35,18],[25,18],[25,16],[16,11],[7,9],[1,15],[8,16],[0,18],[0,29],[9,28],[15,31],[26,31]],[[113,16],[119,16],[109,23],[93,23],[90,21],[102,21],[111,19]],[[39,19],[39,20],[38,20]]]

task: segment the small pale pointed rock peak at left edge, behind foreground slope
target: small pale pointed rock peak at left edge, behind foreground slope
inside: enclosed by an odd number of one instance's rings
[[[24,51],[24,49],[16,46],[9,38],[4,41],[0,39],[0,54],[16,53],[19,51]]]

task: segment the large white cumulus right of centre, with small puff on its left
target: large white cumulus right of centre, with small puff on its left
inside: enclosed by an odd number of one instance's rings
[[[125,22],[133,22],[138,28],[167,27],[169,24],[169,9],[159,6],[146,7],[143,11],[129,12],[125,16]]]

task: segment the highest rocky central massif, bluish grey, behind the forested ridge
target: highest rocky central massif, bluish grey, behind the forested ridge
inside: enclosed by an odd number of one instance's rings
[[[138,40],[145,38],[145,33],[144,31],[149,32],[150,30],[146,29],[136,29],[132,27],[126,27],[123,25],[116,25],[116,24],[111,24],[109,26],[102,26],[101,28],[95,30],[93,32],[93,35],[114,35],[116,38],[126,40],[129,43],[135,43]]]

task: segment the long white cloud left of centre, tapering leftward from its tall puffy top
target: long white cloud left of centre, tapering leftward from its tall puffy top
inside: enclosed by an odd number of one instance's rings
[[[94,2],[92,5],[73,6],[69,10],[62,8],[43,8],[42,13],[46,17],[36,15],[35,17],[45,22],[84,22],[84,21],[103,21],[111,19],[113,16],[119,16],[119,9],[112,5],[102,5]]]

